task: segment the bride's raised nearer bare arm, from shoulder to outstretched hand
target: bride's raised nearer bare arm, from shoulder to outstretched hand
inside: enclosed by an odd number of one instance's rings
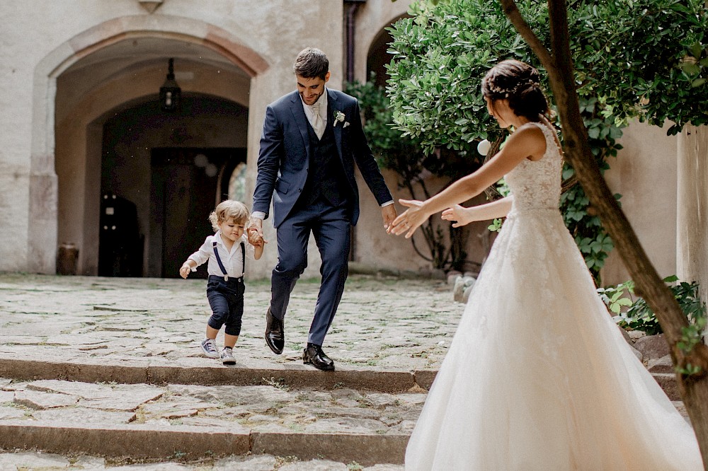
[[[529,156],[542,156],[546,151],[546,138],[541,129],[533,124],[524,124],[509,136],[506,145],[476,172],[460,178],[449,187],[426,201],[399,199],[399,203],[408,207],[392,224],[387,232],[399,236],[406,234],[411,238],[413,232],[432,214],[467,201],[493,185],[509,173],[523,159]]]

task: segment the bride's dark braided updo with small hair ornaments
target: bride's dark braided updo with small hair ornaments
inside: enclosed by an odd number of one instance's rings
[[[492,102],[509,100],[509,107],[516,115],[533,122],[548,115],[538,71],[515,59],[499,62],[489,69],[482,80],[482,95]]]

